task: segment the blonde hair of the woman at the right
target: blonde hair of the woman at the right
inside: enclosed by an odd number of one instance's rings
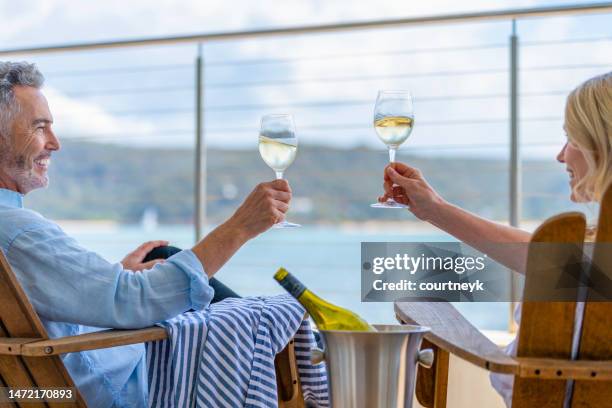
[[[569,94],[565,130],[588,167],[574,193],[600,202],[612,183],[612,72],[589,79]]]

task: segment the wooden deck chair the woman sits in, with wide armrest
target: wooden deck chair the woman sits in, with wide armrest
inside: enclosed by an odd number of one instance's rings
[[[584,216],[565,213],[542,224],[533,234],[532,242],[575,243],[577,250],[582,252],[584,234]],[[612,243],[612,187],[601,203],[596,241]],[[603,247],[596,247],[593,258],[610,276],[612,254]],[[568,251],[552,252],[547,253],[546,260],[554,258],[555,268],[542,272],[542,257],[530,247],[524,293],[537,285],[542,277],[539,273],[549,274],[548,278],[559,276],[575,255]],[[449,303],[396,303],[395,312],[400,322],[432,329],[423,347],[435,349],[435,363],[431,369],[418,368],[416,396],[419,403],[428,408],[446,406],[451,353],[486,370],[514,375],[513,408],[563,407],[568,379],[575,380],[571,407],[612,407],[612,303],[585,304],[579,355],[572,361],[575,308],[576,302],[524,302],[517,357],[513,358],[504,354]]]

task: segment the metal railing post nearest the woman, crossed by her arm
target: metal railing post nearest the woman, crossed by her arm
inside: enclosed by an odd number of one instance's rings
[[[521,222],[521,157],[519,145],[519,100],[518,100],[518,36],[516,20],[512,20],[510,36],[510,225],[518,227]],[[510,331],[516,330],[514,321],[515,295],[518,281],[510,271]]]

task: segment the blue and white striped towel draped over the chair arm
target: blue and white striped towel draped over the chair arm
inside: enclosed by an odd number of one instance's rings
[[[276,407],[274,357],[295,338],[304,399],[329,405],[325,366],[304,309],[289,295],[228,298],[162,323],[146,344],[150,407]]]

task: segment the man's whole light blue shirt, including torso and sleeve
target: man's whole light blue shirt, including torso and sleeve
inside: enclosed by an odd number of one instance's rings
[[[203,309],[213,297],[190,250],[134,273],[79,246],[54,222],[23,208],[23,196],[0,188],[0,248],[51,338],[136,329]],[[144,407],[143,344],[62,356],[90,407]]]

